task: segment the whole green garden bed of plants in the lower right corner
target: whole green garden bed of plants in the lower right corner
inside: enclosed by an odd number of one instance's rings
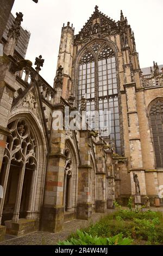
[[[124,210],[114,201],[116,212],[100,219],[89,227],[78,230],[71,234],[67,241],[60,242],[66,245],[109,245],[115,244],[118,237],[118,244],[131,241],[148,244],[163,243],[163,218],[161,212],[135,211],[132,209],[133,199],[129,199],[129,210]],[[128,237],[127,240],[122,240]],[[109,238],[106,238],[109,237]],[[111,238],[112,237],[112,238]],[[115,240],[114,240],[115,239]]]

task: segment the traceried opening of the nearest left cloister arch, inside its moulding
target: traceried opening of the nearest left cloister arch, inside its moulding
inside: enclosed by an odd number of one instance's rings
[[[37,144],[27,120],[17,118],[8,125],[10,135],[5,146],[0,184],[4,197],[0,201],[0,221],[29,218],[35,197]]]

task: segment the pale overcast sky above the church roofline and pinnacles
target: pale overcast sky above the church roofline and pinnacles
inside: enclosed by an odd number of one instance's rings
[[[111,19],[120,20],[120,10],[135,33],[136,49],[139,52],[141,68],[152,66],[153,61],[163,64],[163,1],[162,0],[15,0],[12,14],[21,11],[22,27],[30,31],[26,58],[45,58],[40,72],[53,86],[57,67],[62,24],[73,23],[78,34],[98,5],[102,13]]]

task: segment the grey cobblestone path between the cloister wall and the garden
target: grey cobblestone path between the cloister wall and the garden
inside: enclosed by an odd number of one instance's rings
[[[109,212],[112,212],[112,210]],[[87,227],[91,222],[97,222],[102,216],[102,213],[93,213],[89,221],[74,219],[73,221],[65,222],[64,229],[58,233],[36,231],[21,237],[10,238],[7,236],[7,240],[1,242],[0,245],[56,245],[58,241],[65,240],[72,232]]]

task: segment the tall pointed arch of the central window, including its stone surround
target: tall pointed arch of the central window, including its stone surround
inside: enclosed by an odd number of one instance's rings
[[[84,59],[80,62],[85,50],[93,53],[95,61]],[[106,38],[94,38],[85,44],[77,53],[74,60],[75,79],[74,96],[78,109],[82,104],[82,97],[86,99],[86,111],[103,111],[105,120],[110,120],[108,112],[111,111],[111,132],[99,122],[99,134],[103,138],[115,140],[116,153],[123,153],[123,126],[121,113],[121,97],[118,73],[118,49],[114,42]],[[92,129],[95,122],[92,122]]]

